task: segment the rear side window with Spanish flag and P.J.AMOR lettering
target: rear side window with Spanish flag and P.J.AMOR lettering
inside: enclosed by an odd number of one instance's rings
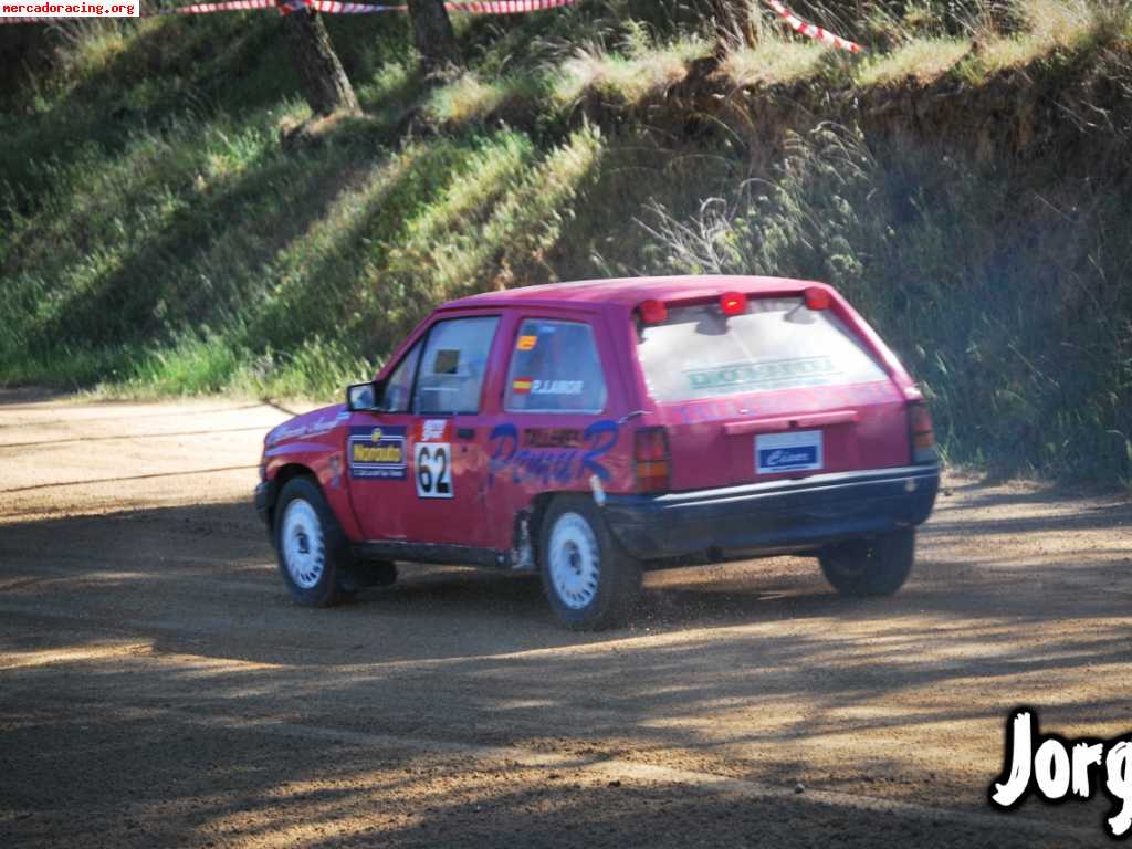
[[[505,410],[600,413],[607,396],[590,325],[544,318],[523,321],[507,371]]]

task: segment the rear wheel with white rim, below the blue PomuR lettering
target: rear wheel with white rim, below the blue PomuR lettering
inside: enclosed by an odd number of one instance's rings
[[[558,496],[550,504],[540,522],[539,569],[551,609],[572,631],[620,624],[641,592],[641,564],[617,544],[584,496]]]

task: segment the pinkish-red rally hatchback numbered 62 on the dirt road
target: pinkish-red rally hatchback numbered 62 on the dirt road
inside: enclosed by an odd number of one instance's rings
[[[617,623],[644,569],[730,558],[893,593],[938,484],[919,391],[833,289],[722,276],[446,303],[345,405],[271,431],[260,474],[302,603],[395,560],[539,571],[572,628]]]

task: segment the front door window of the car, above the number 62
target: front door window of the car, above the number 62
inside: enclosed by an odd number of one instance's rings
[[[429,331],[413,411],[418,413],[478,413],[497,316],[452,318]]]

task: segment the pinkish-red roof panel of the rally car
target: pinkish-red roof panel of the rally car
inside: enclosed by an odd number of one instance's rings
[[[565,307],[571,305],[617,305],[632,309],[650,298],[661,301],[677,301],[722,293],[732,289],[748,294],[757,294],[760,292],[799,291],[813,285],[822,284],[788,277],[727,274],[615,277],[610,280],[581,280],[571,283],[543,283],[498,292],[483,292],[451,301],[440,309]]]

